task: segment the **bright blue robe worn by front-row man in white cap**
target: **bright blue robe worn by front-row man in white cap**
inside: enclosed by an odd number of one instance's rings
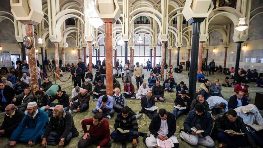
[[[36,141],[41,134],[43,134],[43,130],[48,126],[48,114],[41,109],[38,109],[38,113],[36,114],[35,118],[29,117],[26,115],[23,120],[20,122],[19,126],[13,132],[10,141],[17,141],[19,136],[24,128],[34,129],[34,132],[31,133],[29,138],[30,141]]]

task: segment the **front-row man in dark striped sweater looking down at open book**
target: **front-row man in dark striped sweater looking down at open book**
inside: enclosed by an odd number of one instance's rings
[[[129,130],[129,132],[122,134],[118,128]],[[115,131],[111,132],[111,139],[121,142],[122,145],[126,145],[125,141],[132,141],[132,146],[137,147],[137,138],[139,138],[138,123],[128,106],[123,107],[121,113],[116,116],[114,129]]]

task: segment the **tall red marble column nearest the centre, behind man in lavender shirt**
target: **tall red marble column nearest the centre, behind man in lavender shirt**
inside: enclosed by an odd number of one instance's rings
[[[113,95],[112,71],[112,23],[114,19],[103,19],[105,23],[105,54],[106,54],[106,92]]]

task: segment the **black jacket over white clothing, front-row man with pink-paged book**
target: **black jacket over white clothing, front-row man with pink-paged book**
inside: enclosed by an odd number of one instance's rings
[[[156,138],[158,134],[158,130],[160,129],[161,126],[161,118],[159,117],[159,114],[154,116],[152,118],[152,121],[149,126],[149,131],[151,134]],[[176,131],[176,122],[175,122],[175,115],[167,112],[167,126],[168,126],[168,131],[169,133],[166,135],[168,138],[174,135]]]

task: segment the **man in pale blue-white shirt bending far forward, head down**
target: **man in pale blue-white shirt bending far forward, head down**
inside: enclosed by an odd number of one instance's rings
[[[207,103],[209,104],[209,109],[210,111],[215,110],[215,112],[217,114],[221,114],[224,109],[224,112],[228,111],[228,103],[227,101],[222,98],[222,97],[218,97],[218,96],[211,96],[207,99]],[[212,114],[212,118],[215,119],[215,115]]]

